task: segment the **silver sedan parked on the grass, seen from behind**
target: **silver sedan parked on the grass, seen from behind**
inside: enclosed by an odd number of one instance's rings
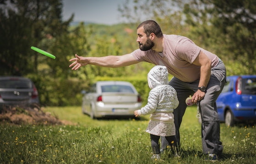
[[[91,118],[133,118],[134,111],[142,106],[142,99],[130,82],[100,81],[93,84],[88,92],[82,93],[82,113]]]

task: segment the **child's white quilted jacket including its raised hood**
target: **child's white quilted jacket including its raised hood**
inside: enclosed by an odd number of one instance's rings
[[[179,101],[175,89],[168,85],[168,71],[165,66],[155,66],[147,74],[149,92],[147,105],[138,111],[140,116],[151,113],[172,113]]]

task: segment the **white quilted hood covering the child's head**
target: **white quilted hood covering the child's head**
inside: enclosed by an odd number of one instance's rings
[[[165,66],[155,66],[147,74],[148,86],[153,89],[159,85],[167,85],[168,70]]]

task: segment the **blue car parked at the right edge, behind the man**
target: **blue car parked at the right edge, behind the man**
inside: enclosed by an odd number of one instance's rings
[[[256,123],[256,75],[227,77],[216,103],[219,120],[226,125]]]

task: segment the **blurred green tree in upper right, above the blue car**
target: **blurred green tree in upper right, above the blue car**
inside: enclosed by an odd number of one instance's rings
[[[201,34],[215,38],[224,60],[232,65],[231,74],[256,73],[255,0],[191,0],[184,6],[188,24],[201,26],[207,20],[211,31]]]

